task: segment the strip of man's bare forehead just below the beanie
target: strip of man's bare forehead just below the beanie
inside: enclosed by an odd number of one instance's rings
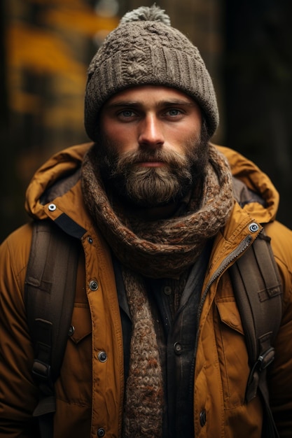
[[[175,88],[163,87],[160,85],[139,85],[138,87],[127,88],[114,94],[104,106],[116,104],[119,101],[139,101],[142,104],[146,101],[186,101],[194,104],[195,101],[188,94]]]

